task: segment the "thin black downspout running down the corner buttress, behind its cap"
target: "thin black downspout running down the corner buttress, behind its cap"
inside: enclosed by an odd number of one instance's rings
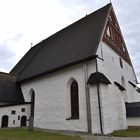
[[[97,58],[98,57],[96,57],[96,72],[98,72]],[[98,95],[98,106],[99,106],[100,129],[101,129],[101,133],[103,134],[103,124],[102,124],[102,113],[101,113],[101,101],[100,101],[99,83],[97,83],[97,95]]]

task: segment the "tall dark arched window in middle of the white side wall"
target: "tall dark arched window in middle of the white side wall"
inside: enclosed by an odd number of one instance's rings
[[[73,81],[70,86],[71,97],[71,118],[79,119],[79,95],[78,95],[78,83]]]

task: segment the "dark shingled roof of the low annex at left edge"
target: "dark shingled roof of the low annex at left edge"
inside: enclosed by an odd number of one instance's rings
[[[2,72],[0,72],[0,102],[24,102],[16,77]]]

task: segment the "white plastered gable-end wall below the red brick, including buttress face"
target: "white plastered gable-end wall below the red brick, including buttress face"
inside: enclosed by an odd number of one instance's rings
[[[100,86],[103,130],[107,134],[113,130],[127,128],[125,102],[140,101],[140,95],[128,83],[131,81],[136,84],[136,79],[133,68],[125,60],[122,59],[123,68],[121,68],[120,56],[103,42],[100,43],[97,54],[103,59],[103,61],[98,59],[98,70],[111,82],[111,85]],[[122,76],[125,79],[126,91],[121,91],[114,84],[114,81],[122,84]]]

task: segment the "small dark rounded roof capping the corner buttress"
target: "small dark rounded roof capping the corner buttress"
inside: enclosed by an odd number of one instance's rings
[[[93,85],[97,83],[111,84],[108,78],[100,72],[92,73],[88,79],[88,84]]]

